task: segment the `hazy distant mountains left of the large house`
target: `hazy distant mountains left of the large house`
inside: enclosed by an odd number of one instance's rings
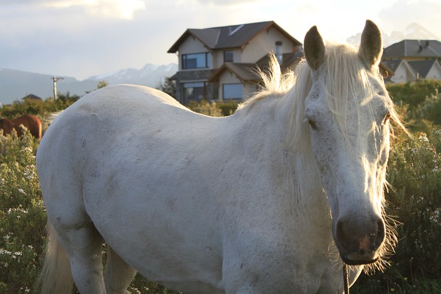
[[[86,92],[96,89],[99,81],[106,81],[109,85],[127,83],[146,85],[148,87],[160,87],[166,77],[173,76],[178,71],[178,65],[147,64],[141,70],[127,68],[114,74],[102,74],[91,76],[83,81],[76,78],[64,77],[64,81],[58,81],[57,92],[83,96]],[[40,98],[53,96],[52,76],[49,74],[36,74],[21,72],[19,70],[0,69],[0,103],[10,104],[21,100],[28,94],[34,94]]]

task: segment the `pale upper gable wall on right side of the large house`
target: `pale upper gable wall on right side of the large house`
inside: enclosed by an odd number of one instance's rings
[[[243,50],[239,63],[255,63],[269,52],[276,52],[276,42],[282,41],[283,53],[293,52],[293,43],[279,30],[270,28],[260,32]]]

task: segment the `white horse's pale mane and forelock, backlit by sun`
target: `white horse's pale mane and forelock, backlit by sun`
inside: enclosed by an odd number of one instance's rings
[[[369,76],[382,79],[378,67],[371,72],[360,60],[358,52],[349,45],[327,45],[325,71],[326,77],[321,79],[322,87],[327,91],[327,103],[334,114],[334,120],[339,126],[342,138],[348,146],[351,146],[347,133],[347,126],[355,123],[360,125],[360,107],[368,105],[373,93],[369,87]],[[294,72],[283,74],[275,56],[271,56],[269,71],[258,71],[263,83],[258,92],[245,101],[238,109],[251,109],[255,103],[263,98],[279,97],[287,101],[287,107],[291,109],[288,122],[287,145],[291,150],[297,150],[300,145],[305,146],[305,136],[308,136],[308,125],[305,123],[305,98],[311,90],[311,68],[303,59],[296,65]],[[358,101],[360,97],[364,101]],[[402,129],[400,118],[393,108],[390,98],[385,101],[389,107],[392,120]],[[289,105],[291,103],[291,105]],[[349,105],[353,106],[356,114],[349,113]],[[366,112],[365,112],[366,114]],[[371,107],[367,115],[372,119],[376,114]],[[350,119],[358,119],[353,122]],[[360,136],[357,136],[360,138]],[[302,144],[300,144],[302,143]]]

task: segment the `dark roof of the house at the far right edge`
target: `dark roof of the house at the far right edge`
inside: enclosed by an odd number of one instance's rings
[[[436,40],[403,40],[384,49],[383,59],[409,57],[441,58],[441,42]]]

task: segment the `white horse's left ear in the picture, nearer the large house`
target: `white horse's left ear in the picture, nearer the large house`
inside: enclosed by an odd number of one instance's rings
[[[305,50],[305,59],[313,70],[318,70],[318,67],[325,62],[325,43],[315,25],[305,35],[303,50]]]

